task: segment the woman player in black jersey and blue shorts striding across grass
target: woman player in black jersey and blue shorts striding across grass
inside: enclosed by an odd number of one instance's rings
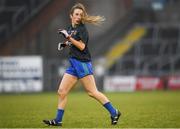
[[[115,125],[121,113],[113,107],[109,99],[100,91],[98,91],[93,76],[93,68],[91,64],[91,55],[88,50],[88,31],[85,23],[99,25],[104,21],[101,16],[90,16],[87,14],[84,5],[75,4],[70,11],[71,25],[67,30],[59,29],[69,42],[69,64],[63,75],[58,89],[58,109],[55,119],[43,120],[47,125],[61,126],[64,115],[64,109],[67,103],[67,95],[75,83],[80,80],[90,97],[99,101],[110,113],[111,124]],[[67,43],[67,42],[66,42]],[[62,44],[65,47],[67,44]]]

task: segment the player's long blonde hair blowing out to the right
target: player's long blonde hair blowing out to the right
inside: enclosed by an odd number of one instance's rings
[[[83,16],[82,16],[82,23],[90,23],[93,25],[101,25],[103,21],[105,21],[105,18],[103,16],[91,16],[88,15],[86,12],[86,8],[84,7],[83,4],[77,3],[75,4],[70,11],[70,14],[72,15],[74,13],[75,9],[81,9],[83,11]]]

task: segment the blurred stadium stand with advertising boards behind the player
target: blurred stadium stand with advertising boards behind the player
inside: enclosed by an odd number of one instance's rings
[[[57,90],[68,66],[57,30],[77,2],[106,18],[87,24],[99,90],[180,89],[179,0],[0,0],[1,93]]]

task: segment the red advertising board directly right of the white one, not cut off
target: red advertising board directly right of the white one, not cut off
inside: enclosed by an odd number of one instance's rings
[[[163,82],[158,77],[138,77],[136,90],[163,89]]]

